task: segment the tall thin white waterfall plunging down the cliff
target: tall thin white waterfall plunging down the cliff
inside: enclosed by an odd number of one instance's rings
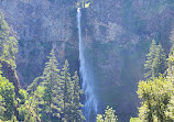
[[[85,58],[85,45],[81,40],[81,26],[80,26],[81,12],[80,8],[77,9],[77,25],[78,25],[78,38],[79,38],[79,62],[80,62],[80,76],[83,80],[83,90],[86,96],[84,104],[84,115],[87,122],[94,122],[97,114],[97,100],[94,93],[94,78],[91,70],[87,66],[87,59]]]

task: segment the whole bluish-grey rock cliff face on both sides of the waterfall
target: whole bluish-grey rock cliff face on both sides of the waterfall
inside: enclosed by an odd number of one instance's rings
[[[166,52],[171,46],[173,7],[168,0],[94,0],[81,10],[83,40],[99,111],[109,104],[122,121],[135,115],[135,90],[143,79],[143,62],[152,38]],[[42,74],[52,47],[56,47],[59,66],[67,58],[72,71],[78,70],[74,2],[1,0],[0,11],[20,37],[17,71],[22,86]]]

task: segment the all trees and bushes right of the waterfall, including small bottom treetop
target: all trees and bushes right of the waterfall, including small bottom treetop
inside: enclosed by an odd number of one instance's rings
[[[141,99],[138,118],[131,118],[130,122],[173,122],[174,121],[174,49],[171,48],[168,58],[165,57],[162,45],[152,41],[150,52],[146,55],[144,68],[146,80],[139,81],[138,96]],[[167,62],[167,63],[166,63]],[[167,64],[167,65],[166,65]],[[166,68],[167,67],[167,68]],[[110,111],[110,112],[109,112]],[[109,120],[115,117],[112,109],[107,108],[102,119],[97,115],[97,122],[117,122]]]

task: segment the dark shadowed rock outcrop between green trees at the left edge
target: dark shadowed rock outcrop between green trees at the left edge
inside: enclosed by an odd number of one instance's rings
[[[0,64],[2,65],[2,76],[13,84],[14,92],[17,96],[19,96],[20,81],[18,79],[15,70],[12,69],[11,65],[9,65],[7,62],[1,62]]]

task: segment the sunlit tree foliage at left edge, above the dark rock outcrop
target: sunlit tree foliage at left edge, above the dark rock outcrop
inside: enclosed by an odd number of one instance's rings
[[[18,41],[10,33],[10,27],[0,13],[0,59],[9,63],[15,68],[15,54],[18,53]]]

